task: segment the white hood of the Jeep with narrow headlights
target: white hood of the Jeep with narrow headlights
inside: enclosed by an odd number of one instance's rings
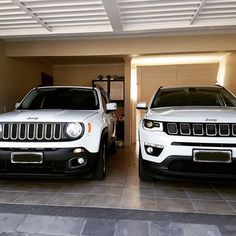
[[[173,122],[236,122],[236,108],[168,107],[150,109],[145,118]]]

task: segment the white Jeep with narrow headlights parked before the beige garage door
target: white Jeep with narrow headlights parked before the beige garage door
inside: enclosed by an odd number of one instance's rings
[[[221,86],[161,87],[139,124],[139,177],[236,176],[236,99]]]

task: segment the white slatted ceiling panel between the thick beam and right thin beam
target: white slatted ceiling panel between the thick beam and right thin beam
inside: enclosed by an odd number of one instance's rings
[[[186,26],[199,3],[199,0],[119,0],[124,30],[132,30],[140,25],[145,29],[158,28],[158,25],[163,28],[164,23]]]

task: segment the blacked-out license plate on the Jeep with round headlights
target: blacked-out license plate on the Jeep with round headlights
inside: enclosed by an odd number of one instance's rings
[[[11,163],[41,164],[43,163],[43,153],[41,152],[12,152]]]

